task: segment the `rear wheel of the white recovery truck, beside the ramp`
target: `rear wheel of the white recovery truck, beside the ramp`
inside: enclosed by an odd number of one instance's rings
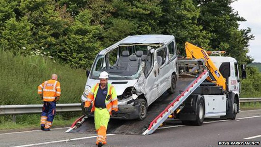
[[[204,121],[204,116],[205,116],[205,105],[203,99],[200,98],[197,104],[196,120],[191,121],[190,124],[195,126],[202,125]]]

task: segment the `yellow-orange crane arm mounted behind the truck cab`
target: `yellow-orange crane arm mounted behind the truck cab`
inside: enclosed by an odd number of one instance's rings
[[[185,49],[186,49],[187,58],[204,59],[206,61],[205,66],[207,67],[209,72],[215,78],[217,85],[222,86],[224,90],[227,89],[226,78],[224,78],[222,76],[222,74],[219,72],[219,70],[217,69],[215,64],[209,58],[209,55],[207,54],[206,50],[204,50],[202,47],[196,46],[189,42],[185,43]],[[212,81],[210,77],[208,77],[207,79]],[[212,82],[215,82],[215,81],[212,81]]]

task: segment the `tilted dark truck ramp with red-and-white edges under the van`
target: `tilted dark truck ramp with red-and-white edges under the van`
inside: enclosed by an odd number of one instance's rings
[[[147,117],[144,120],[110,119],[107,133],[129,135],[148,135],[153,133],[207,76],[208,72],[204,71],[197,78],[179,78],[176,82],[175,93],[170,95],[165,92],[162,94],[161,97],[149,106]],[[180,94],[180,91],[183,92]],[[94,118],[80,117],[66,133],[96,133]]]

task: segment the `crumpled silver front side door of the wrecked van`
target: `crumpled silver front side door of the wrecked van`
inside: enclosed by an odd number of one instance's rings
[[[145,82],[145,92],[146,98],[148,100],[148,105],[154,102],[158,98],[158,66],[155,64],[155,51],[153,54],[150,54],[148,60],[146,61],[146,70],[144,70],[144,75],[146,78]]]

